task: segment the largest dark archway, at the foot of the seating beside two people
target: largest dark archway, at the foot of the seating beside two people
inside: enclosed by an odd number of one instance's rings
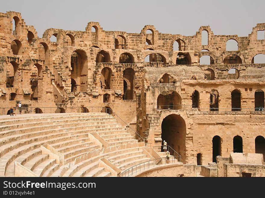
[[[162,141],[172,147],[181,156],[181,161],[186,159],[186,123],[180,115],[170,114],[164,118],[161,125]]]

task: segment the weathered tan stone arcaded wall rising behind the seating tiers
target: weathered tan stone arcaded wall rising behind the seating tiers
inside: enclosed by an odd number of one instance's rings
[[[207,45],[201,42],[204,30]],[[265,40],[257,40],[262,30],[265,23],[239,37],[214,35],[202,26],[195,35],[182,36],[160,33],[152,25],[140,33],[105,31],[89,22],[86,31],[50,28],[40,38],[20,13],[0,13],[0,107],[18,101],[42,112],[44,107],[51,112],[109,107],[136,124],[152,146],[166,139],[184,163],[229,156],[234,137],[239,143],[241,137],[244,152],[264,154],[263,140],[255,150],[256,137],[265,137],[265,64],[254,62],[255,55],[265,56]],[[226,51],[229,39],[237,41],[237,51]],[[200,65],[204,55],[210,56],[209,65]]]

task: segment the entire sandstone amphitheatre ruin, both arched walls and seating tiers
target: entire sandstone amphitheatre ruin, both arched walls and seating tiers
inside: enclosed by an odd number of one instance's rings
[[[0,13],[0,176],[264,177],[264,30],[38,37]]]

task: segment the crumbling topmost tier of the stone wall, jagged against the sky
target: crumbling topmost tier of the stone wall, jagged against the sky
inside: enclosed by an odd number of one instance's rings
[[[12,32],[12,20],[16,21],[16,28]],[[9,34],[9,38],[5,38],[5,43],[9,43],[12,39],[18,39],[25,44],[27,42],[28,31],[33,33],[34,39],[40,39],[33,26],[25,24],[20,13],[9,11],[7,13],[0,13],[0,33]],[[91,28],[94,27],[96,32],[92,32]],[[146,31],[151,30],[152,34],[147,34]],[[208,45],[201,44],[202,31],[208,32]],[[245,37],[237,35],[214,35],[209,26],[201,26],[194,36],[182,36],[179,34],[165,34],[160,33],[153,25],[146,25],[140,33],[126,33],[124,31],[106,31],[100,26],[98,22],[89,22],[86,26],[86,31],[71,31],[50,28],[46,30],[42,36],[45,42],[49,42],[52,35],[57,37],[56,45],[64,47],[68,45],[69,39],[72,40],[70,46],[76,47],[92,47],[114,49],[115,39],[123,39],[124,49],[134,50],[163,50],[172,51],[173,43],[179,42],[179,51],[201,51],[207,49],[210,52],[223,52],[226,51],[226,42],[229,39],[234,39],[238,42],[238,51],[243,50],[259,50],[265,48],[263,40],[257,40],[257,31],[265,30],[265,23],[257,24],[253,31]],[[66,35],[68,37],[66,37]],[[2,35],[3,36],[3,35]],[[120,37],[118,37],[120,36]],[[3,39],[3,37],[2,37]],[[68,40],[67,40],[68,39]],[[146,42],[149,42],[146,45]],[[68,44],[67,44],[68,43]],[[48,44],[48,43],[46,43]],[[26,47],[25,45],[23,45]],[[2,46],[4,47],[4,46]],[[260,53],[263,53],[260,51]]]

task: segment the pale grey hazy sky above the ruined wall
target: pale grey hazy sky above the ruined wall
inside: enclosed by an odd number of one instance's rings
[[[148,24],[161,33],[192,36],[210,25],[215,35],[248,36],[252,27],[265,22],[264,8],[265,0],[2,0],[0,12],[20,12],[39,37],[48,28],[84,31],[90,21],[128,33],[140,33]]]

